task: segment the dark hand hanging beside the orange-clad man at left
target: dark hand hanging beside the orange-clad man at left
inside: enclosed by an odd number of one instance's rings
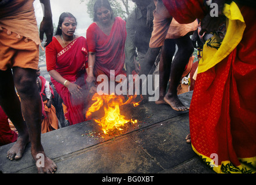
[[[43,34],[46,35],[46,42],[44,47],[46,47],[47,45],[49,45],[50,42],[52,42],[52,38],[53,38],[53,21],[52,18],[46,18],[43,17],[43,20],[40,24],[40,40],[41,42],[43,42]]]

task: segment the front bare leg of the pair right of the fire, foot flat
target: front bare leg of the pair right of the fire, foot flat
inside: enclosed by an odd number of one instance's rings
[[[166,101],[174,110],[183,111],[188,110],[189,108],[184,106],[178,98],[177,87],[180,83],[185,66],[189,61],[189,57],[191,57],[194,49],[189,35],[175,39],[175,42],[178,46],[178,51],[171,64],[170,84],[167,94],[164,97],[164,101]]]

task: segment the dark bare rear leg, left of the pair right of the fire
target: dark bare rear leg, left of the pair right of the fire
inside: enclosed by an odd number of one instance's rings
[[[164,40],[164,46],[162,47],[162,53],[160,55],[159,62],[159,100],[156,104],[167,104],[164,101],[164,95],[166,94],[167,84],[170,79],[171,61],[173,61],[173,55],[175,53],[174,39]]]

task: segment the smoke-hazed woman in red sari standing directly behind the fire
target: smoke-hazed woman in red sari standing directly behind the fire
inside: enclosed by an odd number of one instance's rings
[[[98,75],[115,76],[125,74],[125,21],[114,17],[108,0],[97,0],[94,4],[94,23],[86,32],[89,49],[89,72],[87,83],[92,85]]]

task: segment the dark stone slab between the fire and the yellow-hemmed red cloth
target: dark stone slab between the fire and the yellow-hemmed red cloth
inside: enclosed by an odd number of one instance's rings
[[[158,123],[133,137],[164,169],[169,169],[196,155],[191,145],[185,142],[187,134],[188,113]]]

